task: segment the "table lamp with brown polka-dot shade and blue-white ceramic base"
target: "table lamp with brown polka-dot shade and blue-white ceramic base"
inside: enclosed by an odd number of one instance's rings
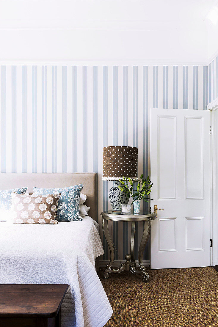
[[[109,191],[111,211],[121,212],[121,205],[128,204],[130,195],[120,191],[119,179],[130,177],[138,180],[138,148],[135,146],[105,146],[103,149],[103,181],[116,181]]]

